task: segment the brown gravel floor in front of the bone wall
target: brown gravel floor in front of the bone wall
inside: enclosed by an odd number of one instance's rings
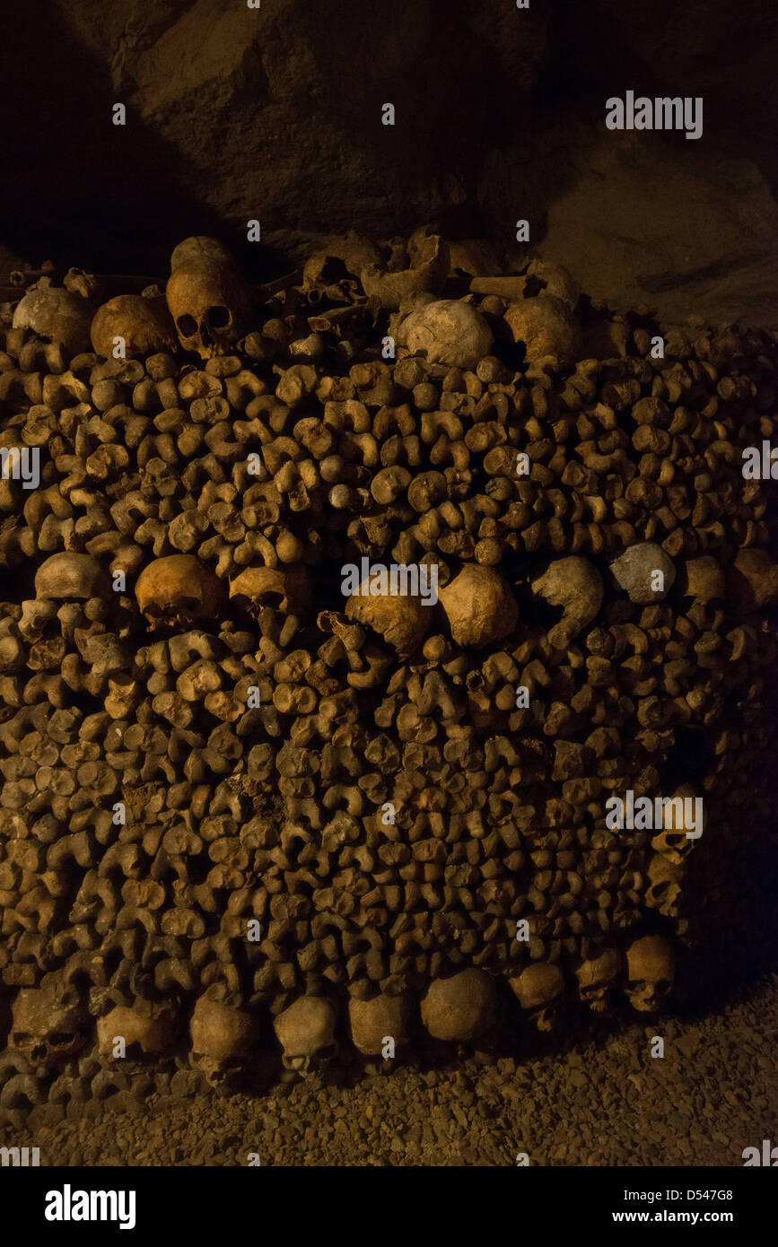
[[[665,1057],[651,1056],[651,1038]],[[41,1106],[0,1145],[41,1165],[742,1166],[778,1130],[778,975],[716,1015],[633,1024],[564,1054],[398,1069],[249,1099]],[[14,1116],[14,1115],[11,1115]]]

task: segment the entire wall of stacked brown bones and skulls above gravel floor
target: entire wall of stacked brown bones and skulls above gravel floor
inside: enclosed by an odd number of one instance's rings
[[[0,1106],[656,1011],[769,818],[774,337],[429,231],[171,269],[5,291]]]

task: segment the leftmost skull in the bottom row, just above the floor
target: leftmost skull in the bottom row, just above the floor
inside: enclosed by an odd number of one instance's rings
[[[32,1067],[64,1065],[86,1042],[86,1001],[56,973],[45,975],[40,988],[22,988],[11,1016],[11,1044]]]

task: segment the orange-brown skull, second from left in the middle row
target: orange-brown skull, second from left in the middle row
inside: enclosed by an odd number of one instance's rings
[[[143,567],[135,585],[137,604],[152,625],[191,627],[221,619],[222,581],[191,554],[171,554]]]

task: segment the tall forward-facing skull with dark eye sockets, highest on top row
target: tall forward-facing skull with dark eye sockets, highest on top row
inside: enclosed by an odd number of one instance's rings
[[[165,294],[181,345],[203,359],[226,354],[248,329],[251,289],[216,238],[178,243]]]

